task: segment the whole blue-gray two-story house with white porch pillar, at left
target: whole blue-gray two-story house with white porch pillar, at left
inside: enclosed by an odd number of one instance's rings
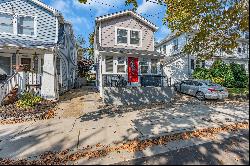
[[[0,1],[0,101],[14,87],[57,99],[75,71],[72,25],[59,11],[38,0]]]

